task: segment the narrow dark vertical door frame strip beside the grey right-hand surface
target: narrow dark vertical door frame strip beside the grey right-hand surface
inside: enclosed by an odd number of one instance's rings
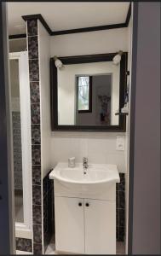
[[[130,86],[130,113],[129,113],[129,200],[128,200],[128,224],[126,231],[126,248],[129,255],[132,254],[133,245],[133,202],[134,202],[134,152],[135,152],[135,84],[137,61],[137,26],[138,3],[132,3],[132,60],[131,60],[131,86]]]

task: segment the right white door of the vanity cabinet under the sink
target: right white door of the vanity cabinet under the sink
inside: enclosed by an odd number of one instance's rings
[[[85,253],[116,254],[116,202],[84,200]]]

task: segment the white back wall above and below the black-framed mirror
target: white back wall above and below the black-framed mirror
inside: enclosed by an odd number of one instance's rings
[[[127,28],[100,32],[84,32],[50,38],[50,55],[90,55],[128,50]],[[51,154],[53,166],[75,156],[82,162],[117,164],[119,172],[126,172],[124,151],[116,150],[116,137],[112,132],[52,132]]]

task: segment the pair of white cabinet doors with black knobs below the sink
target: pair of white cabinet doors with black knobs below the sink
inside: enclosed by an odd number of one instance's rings
[[[116,201],[55,196],[57,251],[116,253]]]

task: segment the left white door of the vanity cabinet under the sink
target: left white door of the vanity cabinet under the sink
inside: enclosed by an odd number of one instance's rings
[[[55,247],[57,251],[84,253],[83,199],[55,197]]]

